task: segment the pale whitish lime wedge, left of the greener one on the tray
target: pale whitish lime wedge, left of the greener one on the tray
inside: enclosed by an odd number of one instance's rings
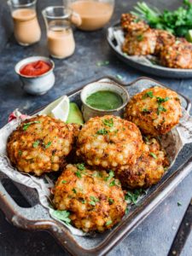
[[[61,96],[55,102],[50,103],[40,114],[49,115],[55,119],[61,119],[66,122],[69,113],[69,99],[67,96]]]

